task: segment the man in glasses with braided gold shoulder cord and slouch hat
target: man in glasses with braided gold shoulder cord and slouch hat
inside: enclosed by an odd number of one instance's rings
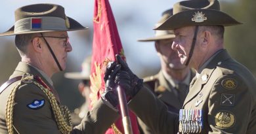
[[[87,28],[66,16],[63,7],[53,4],[18,8],[15,18],[14,26],[0,34],[16,35],[15,44],[21,56],[14,73],[0,88],[0,133],[106,131],[117,119],[115,112],[109,114],[113,111],[110,107],[100,99],[95,110],[73,128],[70,112],[61,105],[51,80],[54,73],[66,68],[68,52],[72,51],[67,31]],[[96,116],[103,114],[109,120]]]

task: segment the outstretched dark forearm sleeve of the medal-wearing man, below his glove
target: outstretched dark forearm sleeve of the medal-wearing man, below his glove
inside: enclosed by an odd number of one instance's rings
[[[169,112],[165,104],[147,88],[141,88],[129,102],[129,107],[153,133],[178,132],[179,116]]]

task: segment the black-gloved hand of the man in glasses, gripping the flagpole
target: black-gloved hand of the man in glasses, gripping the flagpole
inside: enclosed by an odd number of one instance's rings
[[[117,72],[121,69],[121,65],[117,64],[117,62],[112,61],[108,63],[106,67],[106,72],[104,75],[104,81],[105,81],[105,91],[102,94],[102,99],[104,101],[110,102],[110,104],[113,107],[116,107],[118,105],[118,96],[116,92],[116,83],[115,77]]]

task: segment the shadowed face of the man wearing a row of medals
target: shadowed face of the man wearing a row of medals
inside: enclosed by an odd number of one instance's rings
[[[171,48],[173,50],[177,50],[179,58],[181,58],[181,63],[184,65],[188,60],[188,55],[190,52],[190,48],[192,46],[192,40],[194,37],[194,27],[181,27],[175,29],[174,33],[175,39],[173,40]]]

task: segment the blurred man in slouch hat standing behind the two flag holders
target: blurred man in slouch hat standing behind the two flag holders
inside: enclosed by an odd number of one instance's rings
[[[165,10],[161,20],[156,26],[162,24],[167,18],[173,15],[173,9]],[[175,35],[173,30],[158,31],[155,37],[140,39],[139,41],[154,41],[156,51],[160,57],[161,70],[157,75],[144,78],[145,86],[167,105],[168,110],[179,114],[184,99],[188,93],[190,81],[194,77],[191,69],[182,65],[177,51],[171,49]],[[152,133],[140,119],[139,126],[144,133]],[[142,133],[141,131],[141,133]]]

